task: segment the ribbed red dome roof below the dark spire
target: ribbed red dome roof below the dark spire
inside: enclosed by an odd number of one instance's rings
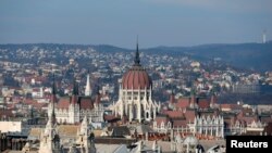
[[[152,80],[140,65],[133,65],[122,78],[123,89],[149,89],[151,85]]]

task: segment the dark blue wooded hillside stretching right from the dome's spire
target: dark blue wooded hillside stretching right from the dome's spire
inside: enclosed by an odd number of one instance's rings
[[[150,53],[189,55],[201,61],[220,59],[236,67],[272,71],[272,42],[238,44],[203,44],[196,47],[158,47],[146,49]]]

